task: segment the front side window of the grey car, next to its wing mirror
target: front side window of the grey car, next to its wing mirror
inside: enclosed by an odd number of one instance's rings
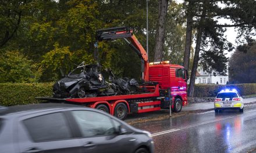
[[[111,119],[99,112],[72,111],[83,137],[109,136],[115,133]]]

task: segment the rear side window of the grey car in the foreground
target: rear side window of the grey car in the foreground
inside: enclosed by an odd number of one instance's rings
[[[23,123],[35,142],[63,140],[72,137],[65,116],[61,112],[26,119]]]

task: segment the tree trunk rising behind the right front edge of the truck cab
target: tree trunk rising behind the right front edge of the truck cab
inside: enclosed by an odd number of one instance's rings
[[[183,57],[183,66],[186,70],[189,70],[190,61],[190,48],[192,42],[192,30],[193,30],[193,14],[192,14],[192,3],[189,2],[189,8],[187,9],[187,28],[186,28],[186,43]]]

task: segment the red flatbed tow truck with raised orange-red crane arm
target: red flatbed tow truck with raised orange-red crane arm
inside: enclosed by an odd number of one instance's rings
[[[97,41],[109,41],[123,38],[133,48],[142,63],[144,83],[139,86],[143,93],[117,96],[85,97],[58,99],[40,97],[48,102],[80,104],[96,108],[125,119],[127,114],[159,111],[171,108],[180,112],[187,104],[187,71],[181,65],[169,64],[169,61],[149,63],[147,53],[133,34],[126,27],[108,28],[97,31]]]

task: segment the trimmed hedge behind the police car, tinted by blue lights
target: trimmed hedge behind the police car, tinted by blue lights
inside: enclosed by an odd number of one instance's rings
[[[222,89],[236,89],[241,96],[256,94],[256,83],[236,85],[208,85],[197,84],[194,87],[193,97],[215,97]]]

